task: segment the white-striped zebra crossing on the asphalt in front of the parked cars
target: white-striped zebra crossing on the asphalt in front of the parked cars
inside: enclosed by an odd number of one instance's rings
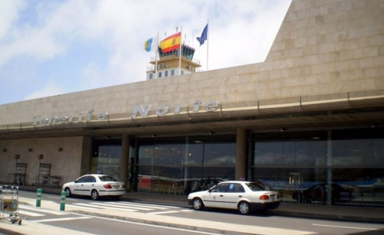
[[[125,212],[139,212],[147,214],[170,214],[170,213],[188,213],[191,209],[185,209],[177,206],[165,206],[156,204],[146,204],[137,202],[90,202],[90,203],[71,203],[66,204],[65,208],[77,210],[116,210]],[[19,214],[27,217],[42,217],[47,215],[63,216],[68,212],[36,208],[32,206],[19,205]]]

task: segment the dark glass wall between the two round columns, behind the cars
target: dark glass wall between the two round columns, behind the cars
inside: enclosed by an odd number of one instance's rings
[[[137,190],[188,194],[206,180],[234,179],[235,135],[138,139]],[[135,181],[135,179],[134,179]]]

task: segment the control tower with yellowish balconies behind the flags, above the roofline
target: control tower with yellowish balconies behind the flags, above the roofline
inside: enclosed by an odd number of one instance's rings
[[[159,47],[159,59],[157,59],[156,57],[151,58],[150,63],[152,64],[152,66],[147,69],[147,80],[198,72],[197,69],[200,68],[201,65],[199,60],[193,58],[195,49],[185,44],[182,44],[182,57],[180,68],[179,50],[180,48],[164,53]]]

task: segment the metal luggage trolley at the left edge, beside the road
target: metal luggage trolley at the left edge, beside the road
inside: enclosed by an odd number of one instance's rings
[[[0,221],[10,221],[12,224],[21,225],[21,220],[25,217],[19,215],[19,187],[0,185],[0,201]]]

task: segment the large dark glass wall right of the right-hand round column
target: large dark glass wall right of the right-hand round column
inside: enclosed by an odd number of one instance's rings
[[[379,128],[257,133],[252,180],[284,202],[384,205],[384,139]]]

